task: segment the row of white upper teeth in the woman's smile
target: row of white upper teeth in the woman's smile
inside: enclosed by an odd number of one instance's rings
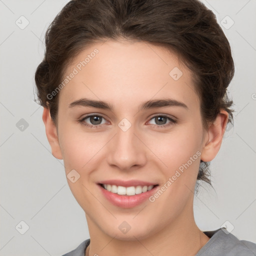
[[[141,194],[141,193],[151,190],[153,188],[153,185],[125,187],[125,186],[103,184],[103,187],[112,193],[117,193],[117,194],[121,194],[121,195],[134,195],[134,194]]]

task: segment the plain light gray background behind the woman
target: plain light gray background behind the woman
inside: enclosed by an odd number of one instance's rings
[[[43,36],[66,2],[0,0],[0,255],[62,255],[89,238],[63,161],[51,155],[43,109],[33,101]],[[236,112],[234,126],[228,127],[211,162],[215,191],[203,184],[195,195],[195,220],[202,230],[227,223],[239,239],[256,242],[256,0],[203,3],[224,24],[232,48],[235,75],[229,96]],[[234,21],[231,27],[226,15]],[[26,20],[29,24],[21,29]],[[29,226],[24,234],[21,220]]]

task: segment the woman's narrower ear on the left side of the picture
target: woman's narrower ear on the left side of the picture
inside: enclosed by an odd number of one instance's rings
[[[58,142],[57,128],[51,119],[49,108],[43,107],[42,120],[45,125],[45,132],[51,147],[52,155],[57,159],[63,159]]]

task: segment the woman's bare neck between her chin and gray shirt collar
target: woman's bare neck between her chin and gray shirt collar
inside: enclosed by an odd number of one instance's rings
[[[187,207],[189,208],[189,205]],[[209,237],[197,227],[193,208],[190,207],[190,209],[192,210],[189,214],[184,210],[178,218],[175,218],[174,223],[168,223],[158,232],[144,239],[137,239],[133,236],[130,240],[120,240],[115,238],[116,235],[107,235],[86,215],[90,233],[89,256],[94,254],[105,256],[195,255],[209,240]]]

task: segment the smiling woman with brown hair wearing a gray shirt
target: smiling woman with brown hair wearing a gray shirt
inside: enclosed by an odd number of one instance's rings
[[[73,0],[46,32],[35,73],[52,154],[90,239],[70,255],[255,255],[201,231],[198,180],[219,151],[234,64],[197,0]],[[161,123],[163,122],[163,123]]]

